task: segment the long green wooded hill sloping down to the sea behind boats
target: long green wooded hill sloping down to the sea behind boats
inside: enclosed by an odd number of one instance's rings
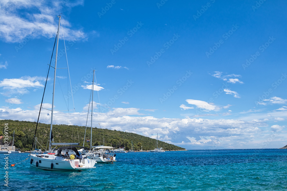
[[[36,122],[30,121],[18,121],[18,120],[0,120],[1,127],[8,123],[8,135],[10,145],[12,144],[13,131],[15,130],[14,145],[16,148],[20,148],[22,151],[27,151],[32,147],[32,141],[35,133]],[[0,128],[1,129],[1,128]],[[0,130],[0,135],[3,135],[3,129]],[[37,147],[48,149],[48,137],[50,134],[50,125],[39,123],[37,128]],[[53,125],[53,138],[55,143],[80,143],[83,145],[85,134],[85,127],[73,126],[73,125]],[[91,137],[91,128],[87,127],[86,140]],[[92,128],[92,146],[104,145],[113,147],[125,147],[125,149],[132,149],[131,141],[133,141],[133,147],[135,150],[140,150],[141,146],[143,150],[154,149],[156,139],[138,135],[135,133],[127,133],[123,131]],[[40,146],[42,145],[42,146]],[[85,141],[85,146],[90,147],[90,143]],[[172,144],[158,141],[158,147],[162,147],[164,150],[184,150],[182,147],[178,147]]]

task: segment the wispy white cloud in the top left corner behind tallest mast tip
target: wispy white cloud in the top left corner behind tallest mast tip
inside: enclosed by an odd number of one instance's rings
[[[54,38],[57,32],[58,18],[52,15],[60,13],[62,9],[83,5],[84,1],[74,3],[68,1],[37,1],[37,0],[6,0],[0,1],[0,36],[6,42],[21,42],[25,38]],[[38,13],[31,13],[30,10]],[[62,18],[66,40],[85,40],[86,35],[81,30],[73,30],[71,24]]]

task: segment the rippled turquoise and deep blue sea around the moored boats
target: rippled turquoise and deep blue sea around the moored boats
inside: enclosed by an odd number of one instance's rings
[[[287,190],[287,149],[117,153],[114,164],[84,172],[30,167],[28,153],[9,155],[9,187],[1,190]]]

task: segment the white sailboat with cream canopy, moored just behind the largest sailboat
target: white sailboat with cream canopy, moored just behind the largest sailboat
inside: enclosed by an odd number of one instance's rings
[[[93,72],[93,82],[92,82],[91,139],[90,139],[90,147],[93,148],[93,150],[91,152],[85,152],[85,151],[83,151],[83,149],[81,149],[79,151],[82,151],[83,153],[85,153],[88,158],[93,158],[97,163],[113,163],[113,162],[116,162],[116,154],[112,153],[113,152],[112,149],[114,147],[108,147],[108,146],[104,146],[104,145],[92,147],[94,77],[95,77],[95,70]],[[90,101],[91,101],[91,99],[90,99]],[[90,104],[89,104],[89,109],[90,109]],[[89,116],[89,109],[88,109],[88,116]],[[88,117],[87,117],[87,123],[88,123]],[[87,123],[86,123],[86,130],[87,130]],[[86,139],[86,130],[85,130],[85,135],[84,135],[83,147],[84,147],[85,139]],[[111,150],[112,150],[112,152],[111,152]]]

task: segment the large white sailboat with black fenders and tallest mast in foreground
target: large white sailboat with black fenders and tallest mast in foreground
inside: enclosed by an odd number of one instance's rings
[[[58,17],[59,17],[59,25],[58,25],[58,32],[57,32],[56,59],[55,59],[55,67],[53,67],[54,68],[54,84],[53,84],[53,97],[52,97],[52,109],[51,109],[49,151],[46,151],[44,153],[40,149],[31,151],[30,152],[30,166],[44,169],[44,170],[82,171],[84,169],[96,168],[94,167],[94,165],[96,164],[96,161],[93,159],[88,159],[86,155],[81,154],[77,151],[77,147],[79,147],[78,146],[79,143],[52,143],[54,95],[55,95],[55,81],[56,81],[57,55],[58,55],[59,29],[60,29],[61,15],[59,15]],[[50,63],[50,66],[51,66],[51,63]],[[48,79],[48,75],[47,75],[47,79]],[[45,84],[45,87],[46,87],[46,84]],[[44,94],[43,94],[43,97],[44,97]],[[43,102],[43,99],[42,99],[42,102]],[[42,103],[40,107],[40,112],[41,112],[41,108],[42,108]],[[39,112],[39,116],[40,116],[40,112]],[[39,120],[39,117],[38,117],[38,120]],[[37,122],[37,125],[38,125],[38,122]],[[36,125],[36,130],[37,130],[37,125]],[[36,130],[34,134],[32,148],[34,147]],[[55,149],[55,148],[51,149],[52,146],[58,146],[58,145],[61,145],[62,147],[58,147],[58,149]],[[90,150],[87,147],[80,147],[80,148],[84,150]]]

